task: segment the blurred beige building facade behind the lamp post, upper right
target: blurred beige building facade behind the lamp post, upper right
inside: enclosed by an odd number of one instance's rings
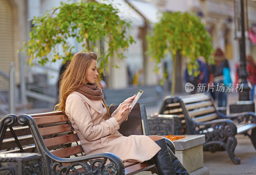
[[[256,24],[256,2],[248,0],[248,27]],[[161,11],[191,11],[201,17],[212,36],[212,45],[220,47],[228,58],[232,79],[235,79],[235,63],[240,60],[238,41],[235,40],[234,0],[155,0],[152,3]],[[246,37],[246,54],[256,59],[256,45]],[[181,60],[184,62],[184,59]],[[181,64],[182,73],[185,65]]]

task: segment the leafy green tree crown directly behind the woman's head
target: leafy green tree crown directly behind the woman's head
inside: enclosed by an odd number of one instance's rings
[[[24,42],[20,50],[26,50],[31,66],[34,61],[44,65],[49,61],[72,58],[74,46],[68,43],[68,38],[76,38],[84,52],[93,52],[97,42],[101,45],[105,42],[108,48],[97,53],[99,73],[105,74],[109,59],[114,54],[119,59],[124,58],[120,50],[127,49],[134,42],[132,36],[126,33],[130,23],[120,19],[117,13],[118,10],[111,4],[61,3],[60,7],[32,19],[34,27],[29,33],[30,40]]]

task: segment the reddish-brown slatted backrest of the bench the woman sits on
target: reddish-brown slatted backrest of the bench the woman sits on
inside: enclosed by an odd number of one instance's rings
[[[68,118],[61,112],[31,114],[30,116],[35,119],[45,145],[53,155],[57,157],[67,157],[83,152],[81,146],[67,148],[68,143],[76,142],[79,139],[77,135],[73,133],[74,129],[68,121]],[[35,142],[28,126],[15,127],[13,131],[19,139],[19,143],[23,147],[24,152],[36,152]],[[20,148],[15,149],[16,147],[18,147],[18,144],[9,128],[6,130],[3,143],[0,147],[1,152],[22,152]],[[60,153],[59,150],[56,150],[61,147],[66,149],[66,151],[62,150]]]

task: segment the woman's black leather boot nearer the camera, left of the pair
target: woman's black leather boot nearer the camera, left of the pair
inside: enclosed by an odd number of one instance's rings
[[[161,150],[153,157],[158,175],[176,175],[165,139],[155,141]]]

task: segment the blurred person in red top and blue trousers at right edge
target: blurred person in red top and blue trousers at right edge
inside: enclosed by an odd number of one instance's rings
[[[255,89],[255,84],[256,84],[256,67],[255,67],[254,59],[252,58],[251,55],[248,55],[246,57],[246,61],[247,61],[246,67],[247,67],[247,70],[248,70],[247,80],[252,84],[251,100],[253,100],[254,89]]]

